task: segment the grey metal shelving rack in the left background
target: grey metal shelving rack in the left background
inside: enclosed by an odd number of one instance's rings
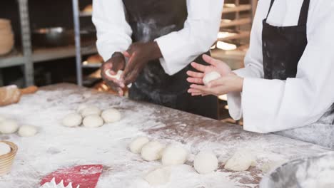
[[[22,48],[14,50],[6,56],[0,56],[0,68],[11,66],[24,66],[25,85],[34,85],[34,63],[41,61],[51,61],[59,58],[76,57],[78,84],[82,85],[81,55],[96,53],[96,46],[81,47],[79,20],[80,16],[91,16],[89,14],[79,14],[78,1],[74,2],[74,28],[76,32],[76,46],[64,46],[56,48],[38,48],[33,51],[31,46],[31,33],[29,22],[29,0],[17,0],[19,6],[19,16],[21,24]],[[80,57],[80,58],[79,58]],[[80,61],[80,63],[79,63]]]

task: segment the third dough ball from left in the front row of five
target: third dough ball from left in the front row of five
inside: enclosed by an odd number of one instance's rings
[[[163,165],[184,164],[188,157],[188,151],[180,145],[168,145],[163,150],[161,162]]]

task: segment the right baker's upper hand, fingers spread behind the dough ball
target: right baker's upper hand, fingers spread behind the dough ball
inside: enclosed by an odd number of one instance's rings
[[[195,71],[187,71],[188,74],[188,82],[189,83],[196,83],[203,85],[203,77],[206,75],[206,73],[210,73],[212,71],[216,71],[221,74],[221,76],[228,75],[231,73],[231,68],[224,63],[223,61],[219,61],[215,58],[211,58],[208,55],[203,55],[203,60],[206,61],[206,63],[210,64],[210,66],[203,66],[199,63],[191,63],[191,66],[195,68],[198,72]]]

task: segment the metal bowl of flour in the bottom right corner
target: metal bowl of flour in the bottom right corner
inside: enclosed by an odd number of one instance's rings
[[[334,152],[282,164],[260,182],[260,188],[309,187],[334,187]]]

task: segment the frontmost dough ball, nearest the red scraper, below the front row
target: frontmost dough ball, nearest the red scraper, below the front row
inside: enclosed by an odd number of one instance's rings
[[[171,177],[171,170],[166,168],[158,168],[154,169],[151,172],[148,172],[144,179],[146,182],[151,184],[152,186],[166,184],[169,182]]]

